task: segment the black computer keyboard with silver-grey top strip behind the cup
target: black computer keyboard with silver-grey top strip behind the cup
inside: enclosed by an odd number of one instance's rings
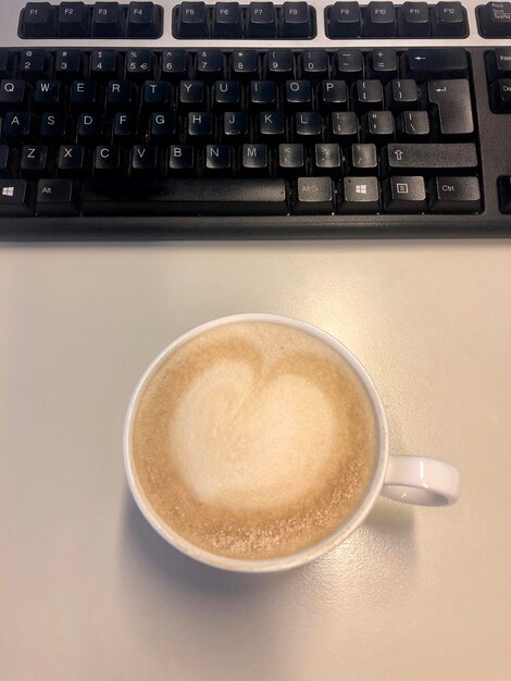
[[[511,2],[49,2],[0,25],[0,238],[511,235]]]

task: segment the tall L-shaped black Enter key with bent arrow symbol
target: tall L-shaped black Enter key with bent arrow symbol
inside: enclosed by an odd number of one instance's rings
[[[441,135],[472,135],[474,119],[469,81],[429,81],[429,104],[437,107]]]

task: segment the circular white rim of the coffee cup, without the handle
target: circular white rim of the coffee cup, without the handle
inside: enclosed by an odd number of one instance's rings
[[[161,518],[159,518],[158,513],[152,509],[152,506],[150,505],[144,490],[141,488],[141,485],[138,484],[138,476],[133,461],[130,442],[133,422],[138,407],[138,403],[145,392],[146,385],[148,384],[157,369],[162,364],[162,362],[182,345],[188,343],[189,340],[201,335],[202,333],[205,333],[207,331],[226,324],[249,321],[284,324],[286,326],[298,329],[319,338],[323,343],[326,343],[326,345],[328,345],[336,352],[338,352],[354,371],[370,397],[376,422],[377,436],[377,461],[365,497],[363,498],[363,502],[359,506],[359,508],[345,522],[342,522],[337,528],[337,530],[324,537],[322,541],[316,542],[315,544],[302,548],[294,554],[276,558],[262,558],[251,560],[242,558],[229,558],[202,549],[191,542],[185,540],[171,525],[169,525]],[[361,361],[351,352],[351,350],[349,350],[336,337],[309,322],[304,322],[302,320],[298,320],[292,317],[286,317],[283,314],[261,312],[229,314],[226,317],[212,319],[180,334],[166,347],[164,347],[152,360],[152,362],[147,367],[141,377],[139,379],[135,389],[132,393],[128,408],[126,411],[123,430],[123,459],[128,486],[140,512],[149,522],[149,524],[153,528],[153,530],[155,530],[162,538],[171,544],[171,546],[185,554],[186,556],[198,560],[199,562],[232,572],[278,572],[307,565],[315,558],[323,556],[324,554],[328,553],[329,550],[341,544],[348,537],[348,535],[351,534],[365,520],[377,496],[379,495],[384,483],[385,471],[388,461],[388,424],[382,399],[367,370],[361,363]]]

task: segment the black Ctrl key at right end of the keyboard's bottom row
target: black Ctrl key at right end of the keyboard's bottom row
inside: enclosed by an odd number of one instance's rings
[[[477,177],[435,177],[428,193],[435,213],[477,213],[482,209]]]

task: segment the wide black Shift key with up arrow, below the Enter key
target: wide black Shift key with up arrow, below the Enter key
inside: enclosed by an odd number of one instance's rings
[[[477,152],[471,143],[407,145],[384,149],[384,162],[391,170],[453,170],[477,168]]]

